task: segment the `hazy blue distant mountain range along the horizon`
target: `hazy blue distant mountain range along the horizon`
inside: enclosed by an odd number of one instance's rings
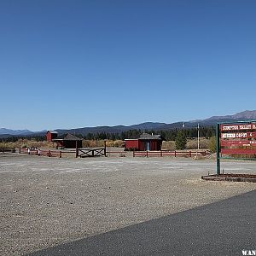
[[[196,127],[197,124],[201,126],[212,126],[216,125],[220,122],[236,122],[236,121],[246,121],[246,120],[256,120],[256,110],[246,110],[240,113],[235,113],[233,115],[225,115],[225,116],[212,116],[208,119],[198,119],[187,122],[176,122],[172,124],[166,123],[157,123],[157,122],[147,122],[138,125],[116,125],[116,126],[96,126],[96,127],[84,127],[84,128],[76,128],[76,129],[56,129],[58,133],[61,135],[63,133],[72,133],[72,134],[82,134],[86,135],[88,133],[97,133],[97,132],[108,132],[108,133],[121,133],[122,131],[128,130],[171,130],[175,128],[182,128],[183,124],[187,128]],[[32,136],[32,135],[44,135],[45,131],[29,131],[29,130],[10,130],[6,128],[0,128],[0,137],[12,137],[12,136]]]

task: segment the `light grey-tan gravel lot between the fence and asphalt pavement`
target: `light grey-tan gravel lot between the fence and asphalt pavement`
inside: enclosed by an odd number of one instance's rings
[[[252,161],[221,170],[256,174]],[[214,160],[0,154],[0,255],[25,255],[256,189],[207,182]]]

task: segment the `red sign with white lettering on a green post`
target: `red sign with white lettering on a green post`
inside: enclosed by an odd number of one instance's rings
[[[256,160],[256,121],[222,123],[217,125],[217,175],[220,159]]]

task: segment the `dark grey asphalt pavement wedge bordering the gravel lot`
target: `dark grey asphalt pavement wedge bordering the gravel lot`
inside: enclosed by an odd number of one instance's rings
[[[253,190],[29,255],[243,255],[256,249],[255,233]]]

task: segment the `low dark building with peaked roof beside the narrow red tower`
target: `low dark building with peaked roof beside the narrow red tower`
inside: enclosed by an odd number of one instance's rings
[[[58,136],[52,142],[57,143],[57,148],[82,148],[82,139],[70,133]]]

